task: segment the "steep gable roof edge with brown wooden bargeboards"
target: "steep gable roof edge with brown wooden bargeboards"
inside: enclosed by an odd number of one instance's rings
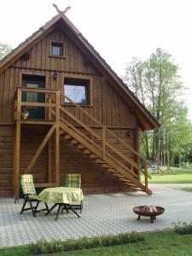
[[[27,49],[30,49],[34,44],[37,44],[39,40],[44,38],[49,32],[54,29],[54,25],[57,22],[64,22],[68,30],[73,36],[73,40],[76,44],[84,49],[84,53],[89,56],[90,61],[94,63],[98,70],[103,73],[108,80],[113,84],[116,90],[119,90],[120,95],[126,102],[131,105],[132,110],[137,114],[139,125],[143,131],[154,130],[160,127],[160,124],[154,119],[151,113],[143,106],[136,96],[129,90],[127,85],[119,78],[117,73],[108,65],[108,63],[102,58],[101,55],[93,48],[86,38],[79,32],[79,30],[68,20],[66,15],[58,14],[49,20],[44,26],[40,27],[37,32],[34,32],[31,37],[21,43],[17,48],[13,49],[9,55],[6,55],[3,60],[0,61],[0,73],[8,68],[14,61],[20,58]]]

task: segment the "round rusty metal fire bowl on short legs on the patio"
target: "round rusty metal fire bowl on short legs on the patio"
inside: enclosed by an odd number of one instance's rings
[[[165,208],[155,206],[140,206],[134,207],[133,212],[138,214],[137,220],[139,220],[141,216],[147,216],[151,218],[151,223],[154,223],[154,219],[156,218],[156,216],[165,212]]]

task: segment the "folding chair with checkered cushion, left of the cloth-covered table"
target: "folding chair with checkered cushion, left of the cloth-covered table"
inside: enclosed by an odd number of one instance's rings
[[[36,193],[35,186],[33,183],[32,174],[21,175],[20,186],[23,191],[23,194],[25,195],[25,200],[24,200],[23,206],[21,208],[20,214],[22,214],[25,211],[31,210],[33,217],[36,217],[36,212],[40,211],[40,210],[38,210],[38,204],[40,201],[36,198],[37,193]],[[30,207],[26,208],[26,202],[29,202]],[[37,202],[35,207],[32,206],[32,202]],[[43,209],[43,211],[48,212],[49,211],[48,205],[46,202],[44,202],[44,204],[45,204],[45,209]]]

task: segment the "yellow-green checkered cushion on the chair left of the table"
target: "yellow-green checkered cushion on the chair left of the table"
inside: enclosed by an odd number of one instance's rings
[[[23,194],[31,194],[37,195],[33,183],[32,174],[23,174],[20,179],[21,189],[23,190]]]

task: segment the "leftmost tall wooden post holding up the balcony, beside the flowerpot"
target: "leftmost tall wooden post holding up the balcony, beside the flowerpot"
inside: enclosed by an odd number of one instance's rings
[[[16,104],[16,124],[15,124],[15,146],[14,146],[14,169],[15,169],[15,181],[14,181],[14,194],[15,202],[20,198],[20,112],[21,112],[21,91],[17,92],[17,104]]]

